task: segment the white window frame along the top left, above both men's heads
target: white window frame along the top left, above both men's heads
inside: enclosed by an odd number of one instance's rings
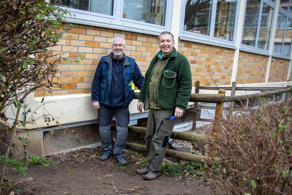
[[[49,2],[49,0],[47,0],[47,2]],[[150,35],[159,35],[163,31],[170,31],[173,0],[166,0],[164,26],[123,18],[123,3],[124,0],[113,0],[112,16],[67,7],[61,8],[68,10],[72,15],[66,16],[67,22]]]

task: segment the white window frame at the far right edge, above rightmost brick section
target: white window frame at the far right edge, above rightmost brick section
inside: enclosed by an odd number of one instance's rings
[[[286,35],[286,30],[287,29],[292,29],[292,28],[288,28],[287,27],[287,22],[288,22],[288,19],[290,19],[290,20],[292,20],[292,14],[291,13],[289,13],[289,7],[292,5],[292,1],[291,0],[289,0],[289,5],[288,5],[288,10],[285,10],[285,9],[283,9],[282,7],[279,7],[279,13],[278,13],[278,15],[279,14],[282,14],[282,15],[284,15],[285,17],[286,17],[286,22],[285,22],[285,28],[284,28],[284,36]],[[278,18],[276,18],[275,19],[275,22],[277,22],[277,20],[278,20]],[[281,29],[281,28],[280,28]],[[276,28],[276,30],[277,30],[277,28]],[[282,52],[281,53],[278,53],[278,52],[274,52],[274,49],[273,49],[273,57],[276,57],[276,58],[283,58],[283,59],[291,59],[291,53],[292,53],[292,44],[291,44],[291,46],[290,46],[290,52],[289,52],[289,54],[283,54],[283,48],[284,48],[284,39],[283,39],[283,42],[282,42]],[[273,45],[273,47],[274,47],[274,45]]]

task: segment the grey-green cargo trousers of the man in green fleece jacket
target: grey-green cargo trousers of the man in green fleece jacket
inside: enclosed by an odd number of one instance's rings
[[[167,143],[171,136],[175,120],[170,120],[174,110],[149,109],[146,130],[146,157],[149,172],[159,176],[165,156]]]

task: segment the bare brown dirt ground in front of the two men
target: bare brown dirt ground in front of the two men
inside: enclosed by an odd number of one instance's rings
[[[28,165],[24,177],[8,168],[7,177],[25,181],[12,186],[6,194],[16,194],[18,189],[20,195],[211,195],[208,182],[192,175],[163,173],[155,180],[143,180],[135,173],[140,168],[139,156],[130,150],[125,150],[127,166],[120,166],[112,158],[101,161],[99,156],[100,147],[47,156],[51,160],[47,167]]]

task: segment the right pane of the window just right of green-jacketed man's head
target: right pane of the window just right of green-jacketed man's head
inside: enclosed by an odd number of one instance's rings
[[[233,40],[237,0],[219,0],[216,10],[214,37]]]

